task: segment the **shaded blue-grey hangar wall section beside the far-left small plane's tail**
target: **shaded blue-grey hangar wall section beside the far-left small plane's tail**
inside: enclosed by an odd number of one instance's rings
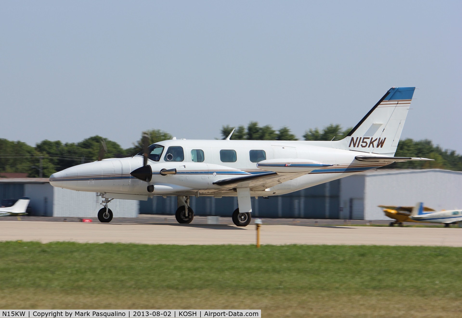
[[[53,216],[54,188],[49,183],[24,184],[24,196],[30,198],[31,215]]]

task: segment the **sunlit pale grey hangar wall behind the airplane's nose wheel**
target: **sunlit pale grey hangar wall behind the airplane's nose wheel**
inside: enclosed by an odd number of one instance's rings
[[[74,191],[55,188],[53,200],[53,216],[95,218],[103,199],[95,192]],[[115,199],[109,203],[114,218],[136,218],[138,216],[139,201]]]

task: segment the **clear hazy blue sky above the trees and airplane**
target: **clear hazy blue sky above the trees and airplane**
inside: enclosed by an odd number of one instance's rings
[[[461,1],[3,1],[0,138],[352,127],[415,86],[402,138],[462,153]]]

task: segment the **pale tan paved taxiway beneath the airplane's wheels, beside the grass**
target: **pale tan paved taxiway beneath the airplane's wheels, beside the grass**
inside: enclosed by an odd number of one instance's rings
[[[462,246],[459,228],[263,225],[262,244]],[[0,241],[255,244],[255,225],[0,222]]]

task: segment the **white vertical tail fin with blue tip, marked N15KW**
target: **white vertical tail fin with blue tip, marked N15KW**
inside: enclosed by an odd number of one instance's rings
[[[346,149],[394,156],[415,87],[394,87],[339,142]]]

